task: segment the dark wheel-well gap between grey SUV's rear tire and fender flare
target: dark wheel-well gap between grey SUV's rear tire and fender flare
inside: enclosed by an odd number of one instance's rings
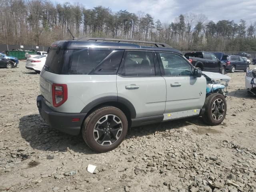
[[[132,120],[131,120],[131,112],[129,110],[128,107],[126,107],[124,104],[120,103],[120,102],[104,102],[101,104],[98,104],[97,106],[95,106],[94,108],[92,108],[85,116],[84,120],[95,110],[102,108],[102,107],[106,107],[106,106],[113,106],[116,107],[118,109],[120,109],[126,116],[127,121],[128,121],[128,127],[130,127]]]

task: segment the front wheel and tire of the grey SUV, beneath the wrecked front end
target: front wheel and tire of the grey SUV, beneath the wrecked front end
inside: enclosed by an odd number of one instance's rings
[[[204,108],[204,122],[212,126],[218,125],[224,120],[226,116],[226,99],[220,93],[211,94],[206,98]]]

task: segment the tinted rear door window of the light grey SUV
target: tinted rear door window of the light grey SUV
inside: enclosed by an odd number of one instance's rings
[[[128,51],[124,68],[124,76],[155,76],[155,67],[152,52]]]

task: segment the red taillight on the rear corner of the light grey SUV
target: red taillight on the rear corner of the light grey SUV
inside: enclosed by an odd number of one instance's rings
[[[52,84],[52,103],[54,107],[61,106],[68,99],[66,84]]]

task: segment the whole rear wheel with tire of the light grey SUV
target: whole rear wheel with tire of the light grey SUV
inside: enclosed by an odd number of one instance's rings
[[[128,130],[125,114],[118,108],[107,106],[92,112],[82,126],[86,144],[96,152],[107,152],[118,147]]]

